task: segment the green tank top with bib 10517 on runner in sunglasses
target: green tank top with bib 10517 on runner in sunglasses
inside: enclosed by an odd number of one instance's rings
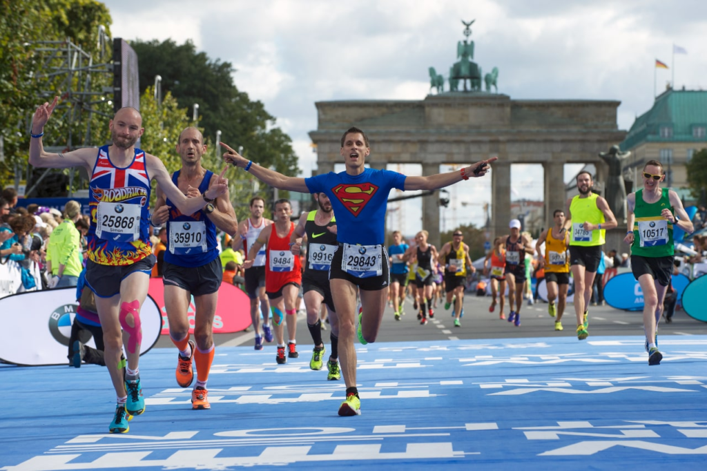
[[[672,241],[672,224],[660,215],[663,209],[674,210],[670,206],[667,188],[662,189],[660,199],[655,203],[643,201],[643,189],[636,192],[636,222],[633,223],[633,245],[631,255],[641,257],[670,257],[675,254]]]

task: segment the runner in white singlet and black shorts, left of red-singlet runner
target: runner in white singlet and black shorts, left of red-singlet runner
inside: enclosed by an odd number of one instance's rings
[[[250,199],[250,218],[240,223],[238,233],[240,237],[234,237],[231,243],[233,250],[243,247],[243,253],[248,256],[250,248],[255,240],[260,236],[260,232],[270,226],[272,221],[263,217],[265,211],[265,200],[261,197]],[[263,340],[272,342],[272,330],[270,328],[270,301],[265,294],[265,248],[262,247],[253,260],[252,267],[245,269],[245,293],[250,298],[250,321],[255,330],[255,349],[263,349]],[[262,313],[263,335],[260,335],[260,313]]]

